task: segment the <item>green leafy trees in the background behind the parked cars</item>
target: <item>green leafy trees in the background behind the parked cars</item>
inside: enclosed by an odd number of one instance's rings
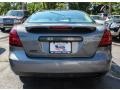
[[[83,10],[89,14],[97,14],[99,5],[109,5],[110,2],[70,2],[69,9]],[[120,14],[120,2],[112,2],[111,13]],[[66,9],[65,2],[0,2],[0,15],[6,14],[11,9],[27,9],[31,14],[36,11],[49,10],[49,9]],[[107,8],[109,11],[109,8]]]

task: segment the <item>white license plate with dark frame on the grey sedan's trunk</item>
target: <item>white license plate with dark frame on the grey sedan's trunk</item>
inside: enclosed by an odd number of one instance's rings
[[[50,42],[50,53],[71,53],[71,42]]]

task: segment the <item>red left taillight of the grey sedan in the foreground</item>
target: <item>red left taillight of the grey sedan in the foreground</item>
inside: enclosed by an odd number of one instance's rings
[[[16,32],[15,29],[12,29],[12,30],[10,31],[9,44],[10,44],[11,46],[22,47],[22,43],[21,43],[21,41],[20,41],[20,39],[19,39],[19,36],[18,36],[18,34],[17,34],[17,32]]]

